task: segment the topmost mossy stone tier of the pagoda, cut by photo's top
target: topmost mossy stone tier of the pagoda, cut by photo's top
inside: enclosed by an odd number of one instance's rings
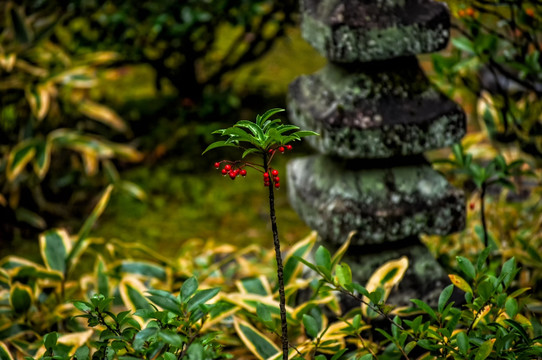
[[[303,0],[302,35],[324,57],[366,62],[443,49],[450,15],[432,0]]]

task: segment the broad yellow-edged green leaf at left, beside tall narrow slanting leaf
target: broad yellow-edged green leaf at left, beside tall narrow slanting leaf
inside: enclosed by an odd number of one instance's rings
[[[66,271],[66,258],[71,250],[71,241],[64,229],[52,229],[39,237],[40,252],[43,262],[48,269]]]

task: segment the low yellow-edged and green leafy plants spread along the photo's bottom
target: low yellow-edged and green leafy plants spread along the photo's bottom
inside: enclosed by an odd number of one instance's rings
[[[88,237],[110,191],[78,235],[42,234],[44,265],[12,256],[0,261],[0,359],[281,356],[272,251],[196,242],[165,257],[143,245]],[[384,264],[364,287],[341,262],[349,241],[333,255],[319,247],[314,263],[307,259],[315,234],[286,253],[291,358],[542,356],[537,310],[528,289],[517,288],[513,258],[493,270],[485,258],[495,249],[474,263],[457,257],[452,285],[434,308],[416,299],[393,308],[386,299],[408,261]],[[457,303],[450,301],[454,288],[463,294]],[[343,297],[360,306],[342,311]]]

